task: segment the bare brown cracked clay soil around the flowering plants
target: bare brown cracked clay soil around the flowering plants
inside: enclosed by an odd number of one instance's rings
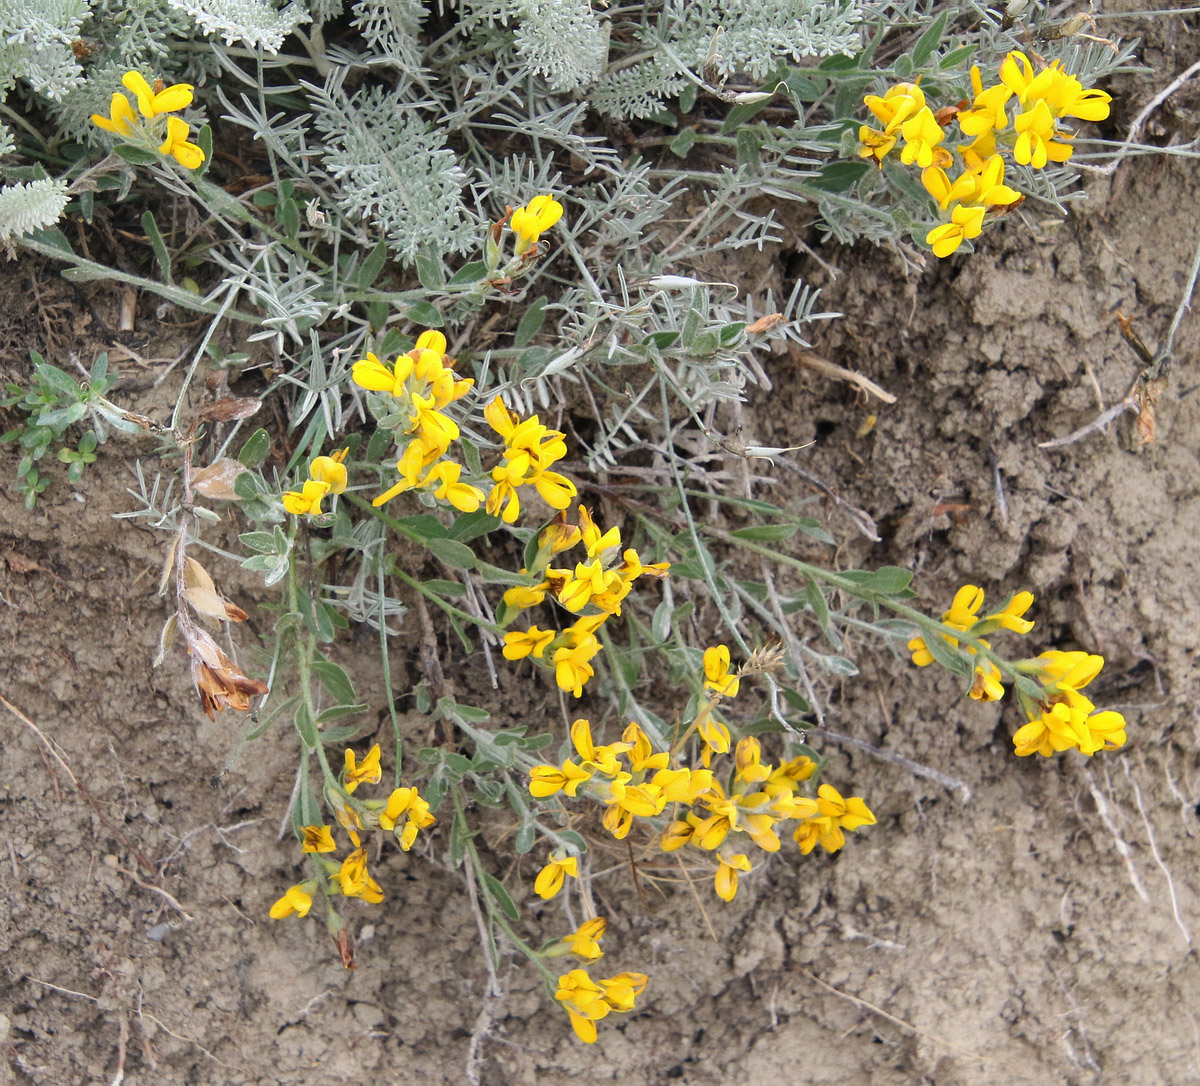
[[[1152,73],[1114,82],[1118,122],[1195,59],[1194,20],[1138,28]],[[1193,82],[1147,134],[1192,138],[1198,118]],[[1117,310],[1152,349],[1165,335],[1200,235],[1200,176],[1154,156],[1085,187],[1066,222],[1015,215],[965,259],[906,268],[882,251],[817,250],[834,277],[809,252],[785,253],[762,270],[776,294],[802,275],[844,314],[817,329],[815,350],[898,400],[864,400],[780,355],[768,362],[774,390],[751,390],[740,424],[761,444],[812,442],[797,463],[874,518],[878,542],[820,493],[805,506],[838,535],[826,557],[839,566],[913,569],[930,611],[966,582],[992,598],[1032,588],[1031,638],[1104,654],[1093,698],[1126,714],[1128,745],[1018,760],[1007,701],[961,700],[934,668],[856,646],[862,674],[832,691],[826,720],[848,739],[811,742],[878,824],[834,857],[785,848],[728,906],[706,893],[715,941],[686,888],[640,894],[628,864],[611,865],[596,886],[606,964],[652,984],[589,1048],[516,959],[499,971],[503,994],[485,997],[475,922],[437,832],[424,851],[379,862],[384,906],[348,911],[353,972],[319,922],[266,919],[296,871],[278,834],[293,755],[282,733],[241,746],[230,714],[210,722],[181,660],[150,666],[166,541],[113,514],[134,508],[126,487],[154,440],[109,442],[83,486],[56,475],[34,512],[14,493],[12,448],[0,449],[0,1078],[1200,1080],[1195,317],[1176,340],[1152,443],[1128,414],[1039,448],[1130,386],[1139,361]],[[36,260],[0,276],[6,378],[28,377],[30,346],[68,365],[72,349],[88,361],[114,342],[102,292],[77,293]],[[121,361],[113,395],[158,416],[173,390],[154,386],[155,360],[178,335],[169,314],[156,319],[143,302],[149,366]],[[780,473],[772,497],[814,493]],[[220,576],[230,594],[262,598],[232,563]],[[239,630],[247,650],[268,623]],[[338,647],[360,678],[373,636]],[[396,688],[420,677],[401,644]],[[502,724],[560,720],[557,697],[528,683],[492,690],[468,668],[450,682]],[[365,736],[383,719],[382,695],[370,696]],[[410,725],[427,742],[420,718]],[[534,872],[527,859],[515,877]],[[532,931],[563,930],[553,905],[524,910]]]

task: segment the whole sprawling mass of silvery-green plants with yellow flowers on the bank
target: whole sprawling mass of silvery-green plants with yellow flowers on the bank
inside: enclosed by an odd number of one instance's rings
[[[776,242],[779,200],[911,259],[968,251],[1022,202],[1061,206],[1076,122],[1106,116],[1092,84],[1127,49],[971,4],[108,11],[60,13],[89,62],[60,56],[54,94],[30,83],[62,130],[25,122],[0,233],[204,322],[173,416],[130,424],[161,431],[178,479],[139,468],[128,516],[172,540],[160,662],[181,647],[210,716],[252,712],[239,746],[296,750],[304,870],[272,917],[316,911],[353,965],[354,899],[385,900],[372,841],[420,848],[464,872],[490,971],[502,943],[526,955],[594,1042],[648,978],[588,971],[606,930],[593,858],[646,886],[710,878],[730,901],[785,835],[836,852],[875,824],[808,742],[857,673],[848,635],[907,644],[972,698],[1009,696],[1019,756],[1126,742],[1081,692],[1099,656],[992,647],[1030,634],[1030,592],[986,610],[965,586],[937,619],[908,602],[910,571],[815,557],[833,536],[762,486],[796,450],[722,430],[748,385],[770,388],[772,346],[833,314],[803,283],[742,298],[706,269]],[[955,131],[970,142],[952,149]],[[64,206],[127,215],[134,194],[154,196],[136,220],[152,271],[48,226]],[[197,406],[205,365],[271,377]],[[37,374],[13,390],[26,448],[89,413],[116,425],[102,368],[86,386]],[[268,395],[286,427],[247,433]],[[236,547],[205,538],[222,521]],[[247,617],[218,587],[229,560],[260,575],[274,616],[252,664],[210,632]],[[355,674],[330,648],[352,624],[378,646]],[[398,643],[419,646],[412,689],[392,685]],[[460,701],[476,685],[503,691],[480,691],[497,708]],[[552,698],[556,719],[536,708]],[[530,898],[563,902],[557,930]]]

